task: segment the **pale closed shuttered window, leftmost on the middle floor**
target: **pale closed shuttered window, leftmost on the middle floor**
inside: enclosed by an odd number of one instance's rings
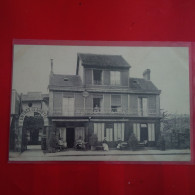
[[[72,97],[63,98],[62,106],[63,106],[62,113],[64,116],[74,115],[74,98]]]

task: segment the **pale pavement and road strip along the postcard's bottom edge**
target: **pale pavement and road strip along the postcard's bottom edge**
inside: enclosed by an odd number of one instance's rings
[[[109,150],[44,153],[41,146],[28,146],[23,153],[9,153],[9,161],[190,161],[190,149],[165,150]]]

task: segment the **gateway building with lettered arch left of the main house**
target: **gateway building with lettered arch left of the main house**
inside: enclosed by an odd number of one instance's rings
[[[49,109],[49,95],[41,92],[18,94],[12,90],[10,151],[24,151],[27,145],[40,145],[46,134],[44,118]]]

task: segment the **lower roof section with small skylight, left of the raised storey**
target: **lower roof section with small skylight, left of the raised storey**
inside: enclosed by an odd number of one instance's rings
[[[50,76],[49,85],[58,86],[58,87],[73,87],[81,86],[82,81],[78,75],[60,75],[53,74]]]

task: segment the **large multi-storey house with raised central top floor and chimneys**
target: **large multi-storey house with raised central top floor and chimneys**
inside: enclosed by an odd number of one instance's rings
[[[98,141],[155,145],[160,132],[160,90],[143,78],[132,78],[131,66],[119,55],[78,54],[75,75],[53,73],[49,79],[50,125],[71,148],[79,136],[94,133]]]

